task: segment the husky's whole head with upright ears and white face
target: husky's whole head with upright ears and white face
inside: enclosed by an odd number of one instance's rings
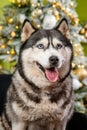
[[[66,19],[51,30],[37,30],[25,20],[21,39],[19,67],[28,80],[43,87],[69,74],[73,51]]]

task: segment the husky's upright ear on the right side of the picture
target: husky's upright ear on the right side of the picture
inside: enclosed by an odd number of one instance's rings
[[[63,18],[56,27],[66,38],[70,39],[69,26],[65,18]]]

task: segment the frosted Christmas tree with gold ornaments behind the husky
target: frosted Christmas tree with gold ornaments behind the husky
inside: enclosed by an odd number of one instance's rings
[[[73,86],[75,89],[75,110],[87,112],[87,58],[81,42],[87,42],[84,28],[79,23],[74,0],[10,0],[3,8],[4,18],[0,21],[0,73],[13,73],[21,45],[21,28],[25,18],[35,28],[50,29],[60,19],[69,22],[71,42],[74,48],[72,64]]]

